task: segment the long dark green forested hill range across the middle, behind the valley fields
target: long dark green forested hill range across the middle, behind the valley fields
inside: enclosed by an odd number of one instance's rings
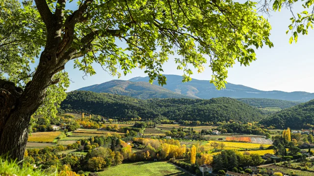
[[[188,121],[258,121],[264,117],[262,111],[232,98],[210,100],[167,98],[136,99],[129,96],[92,91],[72,91],[62,102],[61,109],[67,112],[100,114],[109,118],[130,120],[168,118]]]

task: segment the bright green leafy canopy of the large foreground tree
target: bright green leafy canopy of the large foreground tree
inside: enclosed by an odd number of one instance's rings
[[[69,10],[68,5],[75,3],[77,10]],[[90,75],[96,73],[93,63],[118,76],[118,68],[127,74],[139,67],[151,83],[157,79],[161,85],[166,83],[162,65],[171,55],[177,69],[183,70],[184,82],[191,80],[192,67],[202,72],[209,66],[210,82],[224,88],[229,67],[235,62],[248,66],[256,60],[254,48],[273,46],[270,24],[256,13],[252,1],[35,0],[35,4],[25,1],[22,8],[17,0],[0,0],[0,76],[21,88],[36,72],[30,63],[36,63],[40,48],[53,45],[47,43],[52,39],[47,31],[53,31],[54,22],[61,26],[55,36],[62,39],[58,64],[75,60],[74,67]],[[65,98],[69,85],[67,73],[57,73],[59,68],[53,80],[61,81],[48,87],[38,111],[46,116],[55,114],[54,105]]]

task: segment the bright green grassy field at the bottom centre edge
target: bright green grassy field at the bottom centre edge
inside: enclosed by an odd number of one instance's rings
[[[190,176],[181,168],[167,162],[125,163],[99,172],[100,176],[130,176],[132,174],[136,176]]]

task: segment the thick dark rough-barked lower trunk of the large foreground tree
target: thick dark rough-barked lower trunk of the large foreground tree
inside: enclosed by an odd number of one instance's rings
[[[0,80],[0,156],[23,160],[30,117],[42,105],[46,88],[54,82],[52,76],[60,70],[51,64],[49,56],[43,51],[33,79],[24,91],[14,83]]]

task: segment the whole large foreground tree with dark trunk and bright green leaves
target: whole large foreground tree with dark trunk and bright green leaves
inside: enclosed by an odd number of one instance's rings
[[[7,59],[8,52],[0,52],[0,62],[6,62],[0,68],[0,155],[9,153],[18,160],[23,159],[30,116],[35,112],[55,116],[55,105],[65,98],[69,79],[62,70],[69,61],[74,60],[74,67],[86,75],[96,73],[93,63],[118,77],[118,66],[124,74],[145,67],[151,83],[157,78],[164,85],[162,65],[175,50],[183,58],[175,59],[184,72],[183,81],[191,80],[189,65],[202,72],[208,64],[213,73],[210,82],[224,88],[227,69],[235,61],[248,66],[256,60],[253,46],[273,46],[270,24],[255,12],[252,1],[81,0],[74,11],[68,8],[71,1],[34,0],[35,6],[29,2],[26,8],[18,7],[17,19],[30,19],[22,26],[29,35],[20,36],[35,46],[33,55],[39,56],[43,48],[36,69],[29,68],[31,55]],[[1,25],[16,24],[0,19]],[[116,45],[116,40],[127,46]]]

